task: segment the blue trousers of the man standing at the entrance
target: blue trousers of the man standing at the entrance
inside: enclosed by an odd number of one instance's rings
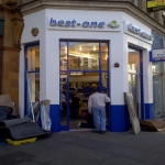
[[[106,109],[105,107],[92,107],[94,123],[97,131],[106,131]]]

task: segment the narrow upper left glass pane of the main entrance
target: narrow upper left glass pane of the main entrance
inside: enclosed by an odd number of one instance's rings
[[[61,70],[67,70],[67,44],[61,42]]]

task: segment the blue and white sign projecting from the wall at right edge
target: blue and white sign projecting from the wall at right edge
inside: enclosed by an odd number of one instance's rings
[[[165,62],[165,48],[164,50],[153,50],[150,56],[151,62]]]

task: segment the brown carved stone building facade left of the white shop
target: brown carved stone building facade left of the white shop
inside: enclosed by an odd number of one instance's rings
[[[23,19],[19,0],[0,0],[0,18],[4,32],[0,43],[0,95],[10,95],[19,112],[19,54]]]

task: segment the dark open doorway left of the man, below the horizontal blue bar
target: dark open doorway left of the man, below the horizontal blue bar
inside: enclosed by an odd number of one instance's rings
[[[70,96],[70,130],[73,129],[94,129],[92,119],[85,119],[88,113],[88,98],[92,92],[92,88],[98,88],[99,73],[80,73],[70,72],[69,76],[69,96]],[[76,98],[75,98],[76,97]],[[77,97],[79,99],[77,99]],[[81,127],[77,128],[77,120],[81,122]]]

